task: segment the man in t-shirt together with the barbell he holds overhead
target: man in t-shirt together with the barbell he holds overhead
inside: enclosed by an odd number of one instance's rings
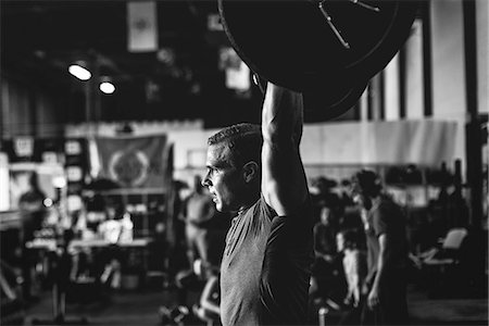
[[[304,114],[331,118],[349,110],[404,42],[416,5],[218,5],[233,47],[267,82],[261,126],[233,125],[208,140],[202,185],[218,211],[237,214],[221,265],[221,319],[225,326],[304,325],[313,261],[312,209],[299,152]]]

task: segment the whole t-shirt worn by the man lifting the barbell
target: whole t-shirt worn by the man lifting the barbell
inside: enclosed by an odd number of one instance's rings
[[[221,265],[224,326],[306,322],[311,212],[308,201],[297,214],[277,216],[261,198],[233,220]]]

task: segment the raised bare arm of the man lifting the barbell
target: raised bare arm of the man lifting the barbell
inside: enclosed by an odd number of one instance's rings
[[[262,192],[278,215],[294,212],[308,197],[299,153],[302,124],[302,95],[268,83],[262,112]]]

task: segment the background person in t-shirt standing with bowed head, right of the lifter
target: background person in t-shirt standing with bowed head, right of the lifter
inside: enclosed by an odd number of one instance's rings
[[[408,239],[401,208],[383,191],[372,171],[353,176],[353,193],[363,208],[368,275],[362,313],[364,325],[406,325]]]

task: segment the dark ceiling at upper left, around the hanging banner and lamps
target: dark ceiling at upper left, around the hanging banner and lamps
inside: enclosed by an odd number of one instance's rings
[[[2,74],[55,90],[68,103],[66,122],[85,116],[84,82],[67,66],[84,60],[113,78],[117,89],[100,95],[98,118],[203,118],[215,127],[260,118],[262,96],[225,87],[218,51],[228,47],[222,30],[208,28],[217,14],[215,1],[156,1],[159,48],[165,52],[127,50],[126,1],[1,1]],[[99,96],[99,95],[97,95]]]

